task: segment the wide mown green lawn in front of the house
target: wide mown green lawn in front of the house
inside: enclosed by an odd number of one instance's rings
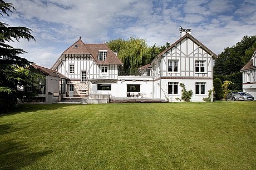
[[[256,102],[24,105],[1,169],[255,169]]]

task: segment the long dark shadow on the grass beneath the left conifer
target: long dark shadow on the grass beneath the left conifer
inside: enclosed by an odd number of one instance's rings
[[[76,104],[78,105],[78,104]],[[18,114],[21,112],[36,112],[41,110],[55,110],[63,107],[74,106],[74,104],[21,104],[16,108],[13,108],[12,111],[0,113],[0,117]]]

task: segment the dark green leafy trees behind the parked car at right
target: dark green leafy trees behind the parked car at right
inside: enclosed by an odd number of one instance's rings
[[[256,36],[244,36],[240,42],[233,47],[227,47],[215,59],[213,77],[220,78],[221,82],[231,81],[230,89],[242,90],[242,73],[240,69],[250,61],[256,49]]]

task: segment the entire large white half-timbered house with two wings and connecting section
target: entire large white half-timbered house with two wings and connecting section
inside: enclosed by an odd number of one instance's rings
[[[140,76],[119,76],[122,62],[106,44],[86,44],[81,38],[64,51],[52,69],[70,80],[66,96],[111,94],[112,97],[181,98],[180,83],[193,91],[191,101],[203,101],[213,89],[216,54],[180,29],[181,37],[146,66]]]

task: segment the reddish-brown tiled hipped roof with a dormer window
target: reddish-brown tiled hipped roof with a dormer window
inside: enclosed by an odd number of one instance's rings
[[[75,47],[76,46],[76,47]],[[100,50],[107,50],[106,61],[99,61],[98,54]],[[82,39],[79,38],[78,41],[68,47],[62,54],[90,54],[96,64],[118,64],[123,65],[124,63],[116,56],[114,52],[111,51],[107,44],[85,44]],[[61,56],[53,64],[52,69],[60,62]]]

